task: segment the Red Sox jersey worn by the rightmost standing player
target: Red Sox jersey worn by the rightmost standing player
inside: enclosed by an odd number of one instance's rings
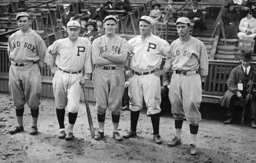
[[[201,76],[208,75],[208,56],[204,43],[195,37],[189,36],[185,42],[180,38],[170,45],[171,58],[166,59],[163,70],[194,71],[198,70]]]

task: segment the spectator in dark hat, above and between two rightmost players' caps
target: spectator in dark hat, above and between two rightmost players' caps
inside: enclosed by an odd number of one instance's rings
[[[177,19],[177,11],[173,8],[173,1],[168,1],[168,6],[163,11],[163,22],[174,22],[175,17]]]

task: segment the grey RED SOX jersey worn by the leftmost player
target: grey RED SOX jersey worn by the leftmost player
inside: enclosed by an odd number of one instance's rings
[[[37,62],[44,66],[46,45],[41,36],[30,28],[23,33],[21,30],[12,34],[8,39],[7,52],[10,60],[17,63]]]

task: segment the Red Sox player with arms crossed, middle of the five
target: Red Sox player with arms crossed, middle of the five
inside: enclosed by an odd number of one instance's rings
[[[93,72],[93,85],[96,96],[96,109],[99,131],[94,139],[104,136],[106,110],[111,110],[113,138],[121,141],[118,124],[122,109],[122,96],[125,90],[125,74],[122,66],[128,60],[129,45],[127,41],[115,34],[116,17],[105,17],[105,35],[98,37],[92,44],[92,60],[96,68]]]

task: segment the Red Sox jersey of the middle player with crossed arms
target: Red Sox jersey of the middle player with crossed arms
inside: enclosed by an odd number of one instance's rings
[[[127,41],[116,34],[111,37],[105,34],[93,40],[92,43],[94,65],[121,67],[128,59],[128,52],[130,52],[130,49]],[[103,57],[102,53],[105,54]]]

